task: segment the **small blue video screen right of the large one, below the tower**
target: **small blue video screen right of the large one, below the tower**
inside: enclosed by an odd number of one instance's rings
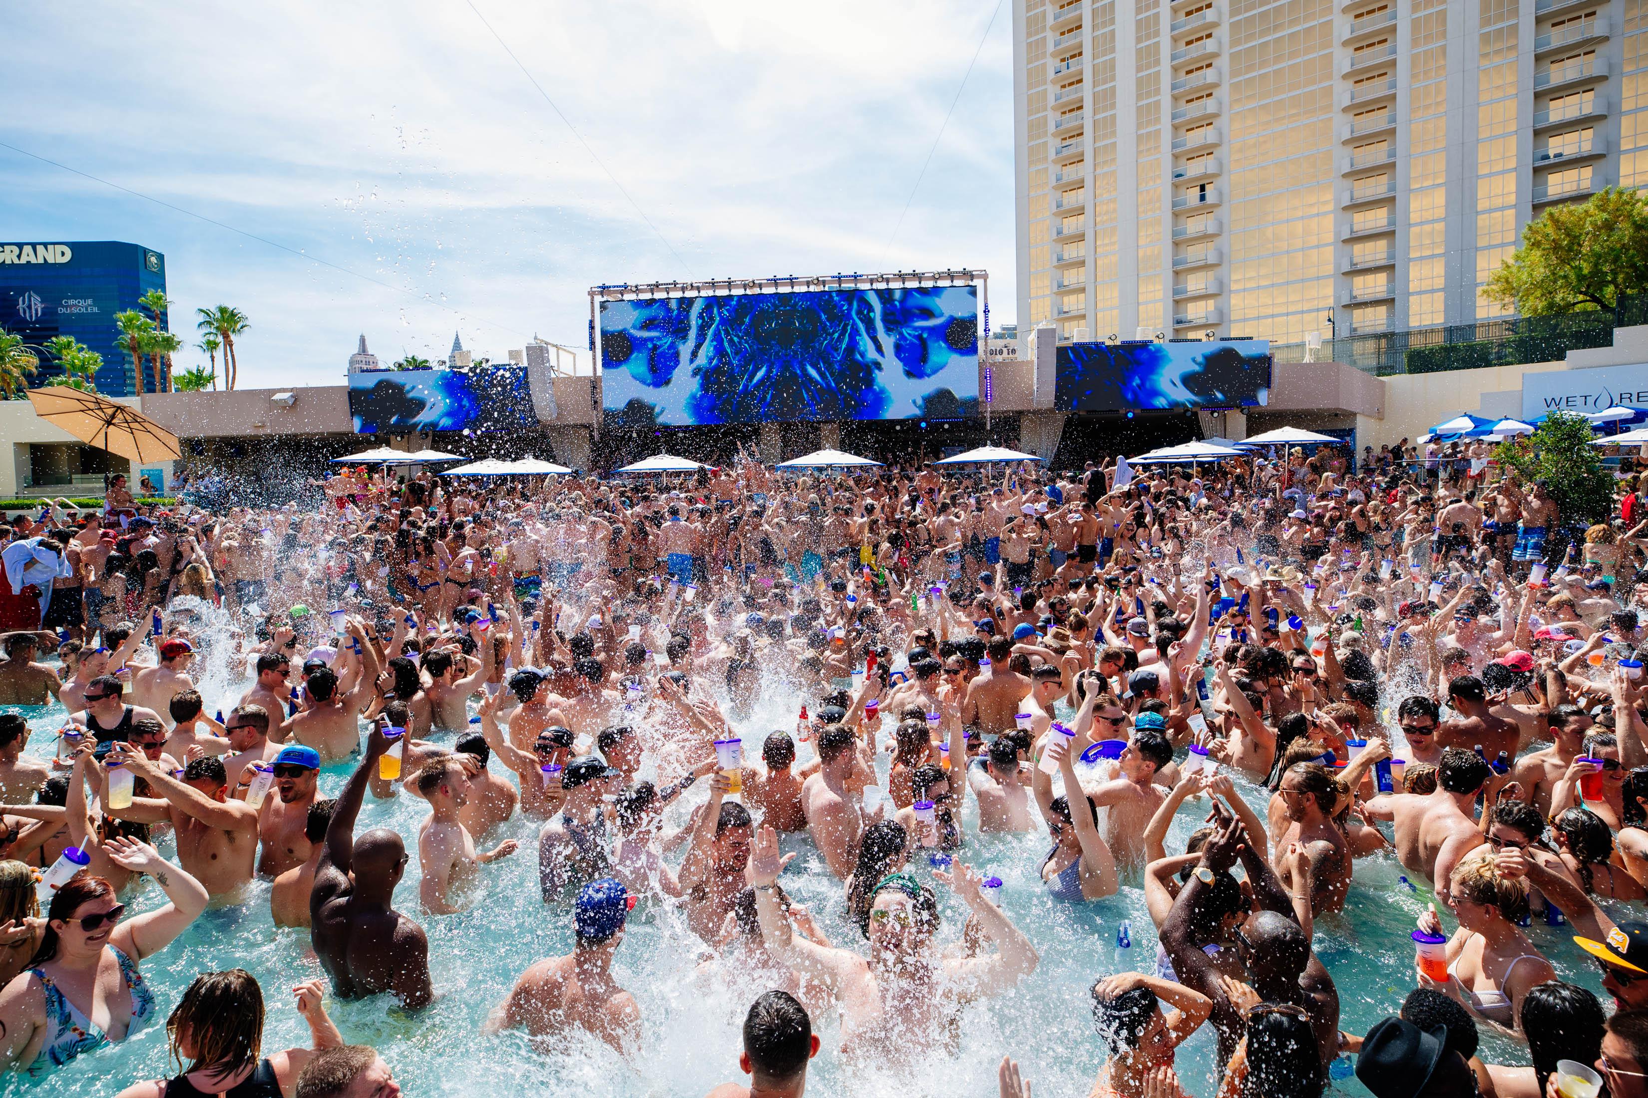
[[[1251,408],[1269,398],[1266,339],[1076,342],[1058,349],[1053,403],[1060,412]]]

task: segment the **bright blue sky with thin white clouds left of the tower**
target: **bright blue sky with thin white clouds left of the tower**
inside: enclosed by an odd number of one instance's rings
[[[163,252],[173,329],[250,319],[242,388],[341,384],[361,333],[384,362],[539,336],[588,370],[603,283],[971,267],[994,329],[1010,23],[1009,0],[20,5],[0,239]]]

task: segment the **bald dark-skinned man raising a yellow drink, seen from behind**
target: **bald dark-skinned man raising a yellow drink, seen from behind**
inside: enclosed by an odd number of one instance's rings
[[[366,780],[387,749],[389,741],[372,729],[366,757],[338,795],[310,894],[310,945],[338,998],[389,991],[400,1006],[417,1011],[428,1006],[435,989],[424,928],[392,907],[407,866],[405,846],[389,828],[354,838]]]

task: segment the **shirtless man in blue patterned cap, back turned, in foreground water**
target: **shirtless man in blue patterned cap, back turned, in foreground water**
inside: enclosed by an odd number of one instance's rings
[[[611,963],[623,942],[634,897],[613,877],[590,881],[572,905],[577,933],[572,953],[534,963],[486,1019],[486,1031],[524,1029],[557,1037],[582,1029],[618,1052],[641,1047],[641,1011],[634,996],[613,981]]]

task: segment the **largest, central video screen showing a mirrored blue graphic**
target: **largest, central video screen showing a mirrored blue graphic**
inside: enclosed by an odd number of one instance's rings
[[[974,286],[602,303],[618,426],[979,413]]]

